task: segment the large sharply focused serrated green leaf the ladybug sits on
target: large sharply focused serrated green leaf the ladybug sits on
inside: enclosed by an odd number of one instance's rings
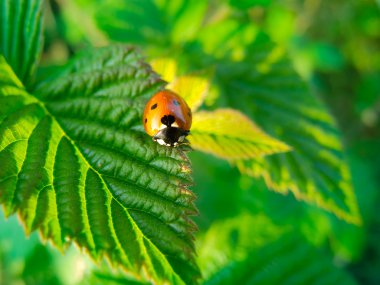
[[[193,284],[190,164],[143,131],[163,83],[131,47],[86,52],[25,91],[0,59],[0,203],[27,233],[157,283]],[[142,277],[141,277],[142,276]]]

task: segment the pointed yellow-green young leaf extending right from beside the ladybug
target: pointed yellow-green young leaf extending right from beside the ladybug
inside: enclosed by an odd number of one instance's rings
[[[189,141],[194,149],[228,160],[258,158],[290,150],[232,109],[195,113]]]

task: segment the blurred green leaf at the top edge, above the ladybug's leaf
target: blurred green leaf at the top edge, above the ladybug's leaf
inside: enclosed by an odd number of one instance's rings
[[[85,5],[94,5],[93,1]],[[108,36],[121,42],[165,45],[197,35],[207,1],[98,1],[95,19]]]

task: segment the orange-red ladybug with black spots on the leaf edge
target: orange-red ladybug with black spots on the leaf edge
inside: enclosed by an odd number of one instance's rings
[[[182,97],[172,91],[159,91],[146,103],[144,128],[160,145],[177,147],[186,142],[191,122],[189,106]]]

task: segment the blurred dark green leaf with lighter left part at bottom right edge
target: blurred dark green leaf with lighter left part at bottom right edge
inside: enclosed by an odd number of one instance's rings
[[[356,284],[291,225],[263,214],[214,223],[199,243],[204,284]]]

